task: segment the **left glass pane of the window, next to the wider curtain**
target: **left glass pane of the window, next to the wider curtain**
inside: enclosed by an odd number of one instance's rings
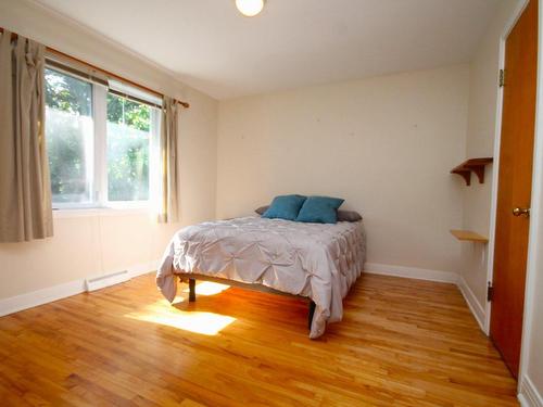
[[[46,69],[46,138],[53,203],[92,200],[92,86]]]

